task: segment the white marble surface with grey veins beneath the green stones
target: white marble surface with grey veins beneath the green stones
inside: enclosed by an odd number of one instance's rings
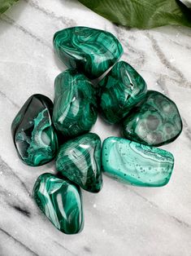
[[[53,99],[54,77],[63,64],[54,57],[53,34],[86,25],[114,33],[123,59],[180,108],[184,130],[163,148],[176,159],[164,188],[134,188],[104,176],[102,192],[83,192],[84,231],[66,236],[41,214],[32,191],[54,162],[29,168],[18,159],[10,126],[34,93]],[[0,255],[189,256],[191,255],[191,29],[124,29],[74,0],[20,0],[0,20]],[[119,135],[100,119],[102,139]]]

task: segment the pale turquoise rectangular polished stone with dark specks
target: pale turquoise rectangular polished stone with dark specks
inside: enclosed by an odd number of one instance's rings
[[[128,139],[110,137],[102,144],[102,169],[111,178],[144,187],[168,183],[174,166],[171,152]]]

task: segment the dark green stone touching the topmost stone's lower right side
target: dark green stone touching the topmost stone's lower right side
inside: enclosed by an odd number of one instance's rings
[[[102,117],[114,124],[125,117],[146,94],[144,79],[131,65],[120,61],[99,83]]]

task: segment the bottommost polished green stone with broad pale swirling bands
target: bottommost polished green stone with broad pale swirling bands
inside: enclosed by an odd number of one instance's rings
[[[84,226],[80,188],[53,174],[41,174],[33,188],[33,198],[59,231],[76,234]]]

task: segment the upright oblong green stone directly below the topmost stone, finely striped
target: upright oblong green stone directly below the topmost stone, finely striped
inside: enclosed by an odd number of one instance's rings
[[[65,137],[88,132],[98,117],[96,90],[75,68],[59,74],[54,82],[54,126]]]

